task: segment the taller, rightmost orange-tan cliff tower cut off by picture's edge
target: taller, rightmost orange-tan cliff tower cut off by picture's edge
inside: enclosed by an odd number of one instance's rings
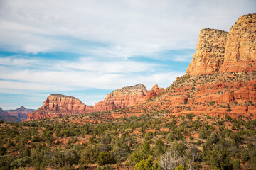
[[[256,71],[256,13],[240,16],[230,28],[220,72]]]

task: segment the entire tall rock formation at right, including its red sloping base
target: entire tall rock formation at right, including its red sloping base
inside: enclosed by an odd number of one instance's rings
[[[230,33],[201,30],[187,74],[158,98],[126,112],[256,117],[255,24],[256,13],[238,18]]]

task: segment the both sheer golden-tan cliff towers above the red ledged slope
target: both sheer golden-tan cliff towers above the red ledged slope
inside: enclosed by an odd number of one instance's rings
[[[256,71],[256,14],[241,16],[230,33],[203,29],[188,66],[190,75]]]

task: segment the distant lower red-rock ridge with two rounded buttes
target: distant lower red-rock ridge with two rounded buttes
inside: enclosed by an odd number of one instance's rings
[[[155,85],[150,91],[146,90],[143,84],[126,86],[122,89],[107,94],[104,101],[100,101],[95,106],[87,106],[78,98],[61,94],[51,94],[43,102],[43,106],[28,115],[27,120],[41,118],[53,118],[64,115],[75,115],[81,113],[92,113],[97,111],[108,111],[116,108],[127,108],[139,103],[144,103],[146,99],[159,95],[163,88]]]

